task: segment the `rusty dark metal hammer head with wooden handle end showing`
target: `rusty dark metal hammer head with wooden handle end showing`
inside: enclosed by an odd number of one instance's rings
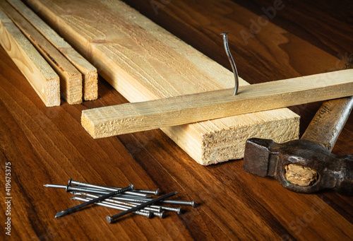
[[[275,177],[294,192],[335,189],[340,194],[353,194],[353,155],[334,155],[315,141],[301,139],[279,144],[268,139],[249,139],[244,170]]]

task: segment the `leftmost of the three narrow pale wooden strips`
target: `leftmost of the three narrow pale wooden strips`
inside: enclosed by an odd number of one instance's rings
[[[59,76],[1,9],[0,43],[44,105],[60,105]]]

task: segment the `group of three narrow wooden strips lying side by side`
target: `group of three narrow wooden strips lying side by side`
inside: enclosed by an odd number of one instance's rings
[[[0,7],[4,11],[1,12],[1,26],[8,33],[1,38],[1,45],[40,95],[44,104],[60,105],[60,94],[71,105],[79,104],[83,98],[97,99],[95,67],[22,2],[12,1],[11,4],[16,6],[18,11],[6,1],[0,2]],[[26,41],[23,35],[30,42]],[[13,45],[22,51],[11,49]],[[30,62],[19,61],[18,57],[30,59]],[[44,61],[50,66],[47,64],[43,66]],[[31,71],[32,66],[41,66],[42,69],[39,70],[41,73],[49,71],[54,78],[59,78],[59,81],[56,81],[59,86],[53,88],[48,84],[50,83],[48,78],[37,78]],[[56,93],[52,94],[54,90]]]

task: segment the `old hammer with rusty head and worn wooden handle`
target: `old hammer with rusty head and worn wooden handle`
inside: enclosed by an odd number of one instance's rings
[[[244,170],[275,177],[283,187],[302,193],[334,189],[353,195],[353,155],[332,151],[353,107],[353,96],[323,103],[301,139],[286,143],[246,141]]]

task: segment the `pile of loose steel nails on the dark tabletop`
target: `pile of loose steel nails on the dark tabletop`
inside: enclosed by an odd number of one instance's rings
[[[105,206],[122,211],[121,213],[118,213],[114,216],[107,216],[107,221],[109,223],[114,222],[117,218],[120,218],[127,213],[136,213],[140,216],[145,216],[148,218],[152,218],[152,216],[164,218],[165,211],[172,211],[178,214],[181,213],[181,206],[171,207],[163,206],[163,204],[187,205],[196,207],[195,201],[166,200],[170,196],[177,194],[177,192],[172,192],[164,196],[159,196],[155,199],[152,199],[152,196],[150,195],[159,195],[158,189],[134,189],[133,184],[130,184],[125,188],[107,187],[85,182],[78,182],[70,179],[68,180],[68,185],[44,184],[44,187],[66,189],[66,192],[71,192],[71,194],[75,195],[71,199],[83,201],[83,203],[78,206],[73,206],[64,211],[56,213],[55,218],[76,212],[80,208],[90,204],[96,204],[99,206]]]

